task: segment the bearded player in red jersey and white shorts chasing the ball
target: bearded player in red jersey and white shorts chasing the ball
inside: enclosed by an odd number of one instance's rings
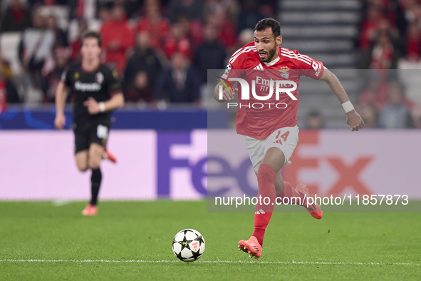
[[[241,93],[244,88],[241,85],[240,90],[236,88],[234,92],[224,89],[220,96],[222,83],[214,91],[214,98],[219,102],[228,101],[228,105],[236,104],[230,101],[238,94],[237,133],[246,136],[246,147],[259,185],[258,198],[270,199],[269,204],[259,202],[256,205],[254,233],[249,240],[239,241],[239,250],[256,259],[261,256],[264,233],[276,198],[291,199],[290,203],[302,205],[316,219],[323,215],[319,205],[307,205],[306,185],[293,188],[281,175],[281,168],[291,164],[289,158],[298,143],[296,117],[300,76],[325,81],[341,101],[350,129],[358,131],[364,126],[338,78],[320,61],[282,48],[281,43],[279,22],[274,19],[259,21],[254,29],[254,42],[232,55],[222,76],[224,81],[247,81],[251,93]],[[277,87],[281,89],[277,91]]]

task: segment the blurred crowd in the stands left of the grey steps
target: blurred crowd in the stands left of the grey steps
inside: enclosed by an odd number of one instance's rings
[[[89,29],[103,36],[103,61],[118,72],[127,101],[199,105],[207,69],[225,68],[227,56],[252,40],[254,24],[276,14],[276,2],[257,9],[251,0],[241,6],[238,0],[5,0],[0,32],[21,33],[22,102],[54,101],[61,73],[80,58],[80,36]],[[60,26],[63,8],[68,24]],[[2,62],[14,88],[7,101],[16,101],[14,73]]]

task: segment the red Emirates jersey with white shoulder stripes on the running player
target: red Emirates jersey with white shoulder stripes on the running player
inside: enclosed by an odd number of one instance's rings
[[[260,61],[254,42],[239,48],[229,59],[222,76],[232,85],[235,81],[230,79],[233,78],[244,79],[249,84],[249,94],[243,95],[242,86],[237,83],[237,133],[263,140],[279,128],[296,126],[300,77],[321,78],[323,69],[323,63],[296,50],[279,47],[279,57],[264,63]],[[280,91],[276,95],[276,86],[291,91]]]

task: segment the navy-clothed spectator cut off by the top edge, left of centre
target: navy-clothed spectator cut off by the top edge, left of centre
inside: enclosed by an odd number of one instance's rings
[[[171,0],[168,4],[168,17],[174,23],[180,18],[191,20],[204,20],[203,0]]]

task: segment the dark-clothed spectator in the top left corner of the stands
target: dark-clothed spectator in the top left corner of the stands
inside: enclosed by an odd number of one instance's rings
[[[11,0],[0,23],[0,32],[24,31],[31,26],[31,12],[20,0]]]

